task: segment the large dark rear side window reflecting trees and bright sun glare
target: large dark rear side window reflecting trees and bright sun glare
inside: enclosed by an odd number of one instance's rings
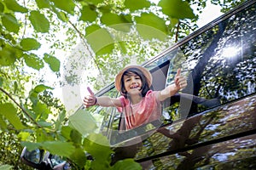
[[[193,96],[189,108],[173,103],[178,99],[166,102],[166,119],[177,120],[255,93],[255,26],[254,5],[183,43],[175,53],[170,52],[166,85],[173,83],[180,67],[189,82],[182,93]]]

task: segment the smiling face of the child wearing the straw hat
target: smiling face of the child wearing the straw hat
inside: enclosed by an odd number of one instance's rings
[[[142,79],[135,73],[124,76],[125,90],[128,94],[140,94],[142,90]]]

